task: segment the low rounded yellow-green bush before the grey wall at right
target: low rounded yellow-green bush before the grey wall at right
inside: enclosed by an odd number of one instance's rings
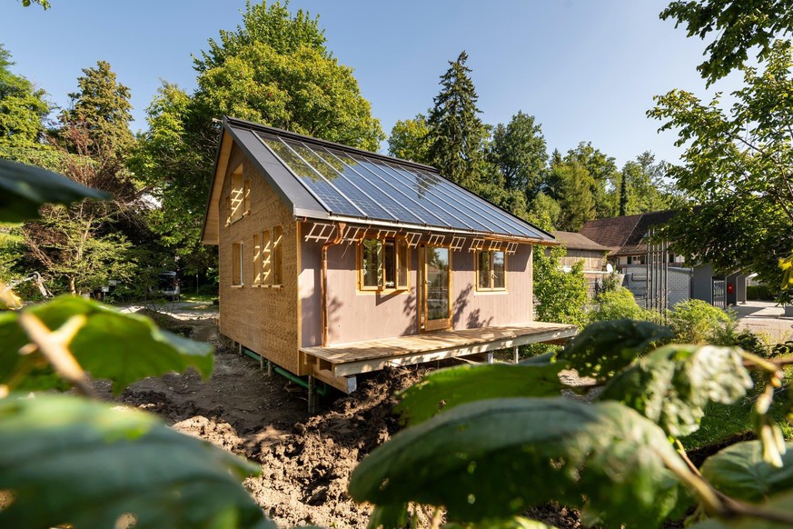
[[[676,304],[669,313],[669,325],[683,344],[732,345],[725,342],[735,336],[735,315],[699,299]]]

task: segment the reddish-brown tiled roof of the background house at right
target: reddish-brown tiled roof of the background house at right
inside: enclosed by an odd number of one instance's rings
[[[580,233],[600,245],[609,246],[611,255],[640,255],[647,252],[644,237],[649,229],[666,223],[676,214],[668,210],[591,220],[583,225]]]

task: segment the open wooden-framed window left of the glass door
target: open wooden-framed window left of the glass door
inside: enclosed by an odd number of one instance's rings
[[[404,239],[365,238],[358,246],[360,290],[406,290],[409,252]]]

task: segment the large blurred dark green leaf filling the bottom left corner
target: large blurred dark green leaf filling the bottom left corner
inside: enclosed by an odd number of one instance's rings
[[[0,400],[3,527],[274,527],[240,482],[258,467],[154,415],[66,395]]]

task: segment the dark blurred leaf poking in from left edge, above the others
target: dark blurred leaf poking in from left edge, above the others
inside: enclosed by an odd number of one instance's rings
[[[84,198],[110,197],[41,167],[0,160],[0,222],[35,218],[45,204],[70,205]]]

